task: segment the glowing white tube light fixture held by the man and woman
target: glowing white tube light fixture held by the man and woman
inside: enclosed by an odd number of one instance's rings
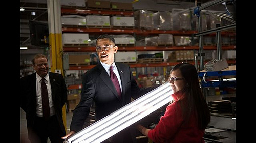
[[[169,82],[65,139],[66,143],[102,142],[173,100]]]

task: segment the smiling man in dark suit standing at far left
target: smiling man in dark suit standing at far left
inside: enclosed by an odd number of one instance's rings
[[[32,60],[35,73],[20,78],[20,107],[26,112],[28,137],[32,143],[62,143],[66,135],[62,119],[62,107],[67,101],[67,87],[61,74],[48,72],[48,59],[37,54]],[[42,78],[46,83],[50,117],[43,116],[41,88]]]

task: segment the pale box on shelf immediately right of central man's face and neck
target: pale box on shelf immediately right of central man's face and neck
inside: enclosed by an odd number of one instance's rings
[[[136,62],[136,52],[117,52],[115,53],[116,62]]]

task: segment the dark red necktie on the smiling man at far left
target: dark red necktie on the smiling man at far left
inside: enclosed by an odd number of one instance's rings
[[[42,78],[41,87],[42,87],[42,117],[48,120],[50,119],[50,106],[49,106],[48,91],[45,83],[45,78]]]

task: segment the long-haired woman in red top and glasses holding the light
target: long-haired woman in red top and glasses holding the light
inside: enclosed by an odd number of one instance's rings
[[[169,76],[174,101],[166,107],[154,129],[137,125],[137,129],[157,142],[202,142],[204,129],[210,122],[210,111],[200,89],[194,65],[179,63]]]

